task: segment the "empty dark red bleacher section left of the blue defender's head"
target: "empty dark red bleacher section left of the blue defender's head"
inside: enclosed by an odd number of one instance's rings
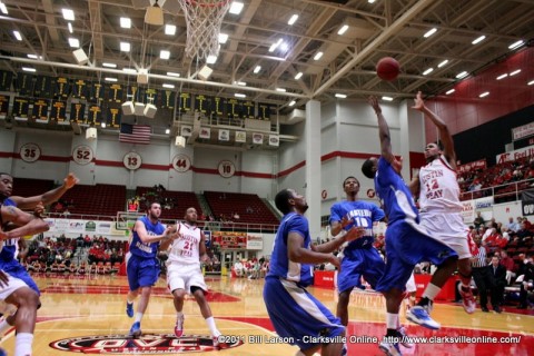
[[[116,185],[83,186],[76,185],[62,196],[72,201],[69,211],[72,215],[103,215],[115,217],[126,206],[126,187]]]

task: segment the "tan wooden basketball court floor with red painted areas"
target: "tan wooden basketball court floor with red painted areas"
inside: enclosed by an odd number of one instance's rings
[[[164,279],[152,290],[148,312],[142,319],[144,335],[128,336],[132,319],[125,313],[128,290],[120,276],[36,276],[41,288],[42,308],[33,352],[39,356],[85,354],[168,355],[209,353],[211,355],[294,355],[296,347],[281,344],[273,332],[263,300],[263,279],[207,277],[210,303],[217,327],[225,334],[229,348],[215,350],[208,328],[194,299],[184,308],[185,336],[172,334],[175,309]],[[309,288],[330,310],[337,295],[330,288]],[[503,314],[464,313],[459,305],[437,304],[433,316],[442,328],[432,332],[406,322],[402,323],[415,337],[437,340],[405,348],[405,355],[528,355],[534,347],[534,310]],[[384,298],[373,293],[356,293],[350,297],[347,342],[349,355],[382,355],[378,340],[385,332]],[[431,339],[434,337],[434,339]],[[445,339],[456,337],[456,339]],[[476,338],[472,343],[468,338]],[[422,339],[421,339],[422,340]],[[493,343],[497,340],[498,343]],[[14,330],[2,339],[1,347],[12,353]]]

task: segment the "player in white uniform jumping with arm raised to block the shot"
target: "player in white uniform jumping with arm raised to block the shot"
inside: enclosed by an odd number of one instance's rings
[[[462,219],[459,187],[456,179],[456,152],[447,125],[425,106],[421,91],[415,98],[416,109],[425,115],[438,129],[441,142],[426,145],[427,165],[421,168],[419,175],[411,182],[414,195],[418,194],[421,207],[421,226],[428,234],[451,247],[458,254],[459,294],[466,313],[475,312],[476,303],[471,291],[471,250],[468,229]],[[443,145],[443,148],[438,145]],[[418,305],[432,309],[432,301],[443,285],[433,278]],[[408,319],[411,315],[408,314]],[[412,320],[412,319],[411,319]],[[416,320],[414,320],[417,323]]]

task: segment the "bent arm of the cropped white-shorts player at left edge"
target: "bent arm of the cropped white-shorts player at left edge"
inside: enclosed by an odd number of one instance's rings
[[[24,212],[12,206],[1,207],[2,222],[11,222],[18,227],[10,231],[0,231],[0,239],[21,237],[26,235],[36,235],[48,231],[49,226],[42,219]]]

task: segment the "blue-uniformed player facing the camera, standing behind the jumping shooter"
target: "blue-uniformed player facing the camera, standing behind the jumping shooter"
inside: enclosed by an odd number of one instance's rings
[[[338,201],[330,207],[330,233],[337,236],[342,230],[353,226],[364,228],[365,235],[343,248],[342,268],[337,275],[337,317],[342,324],[348,325],[348,300],[354,287],[360,287],[360,277],[375,288],[376,283],[384,274],[384,260],[373,247],[373,222],[385,218],[384,211],[376,205],[358,199],[359,181],[355,177],[347,177],[343,181],[346,200]]]

